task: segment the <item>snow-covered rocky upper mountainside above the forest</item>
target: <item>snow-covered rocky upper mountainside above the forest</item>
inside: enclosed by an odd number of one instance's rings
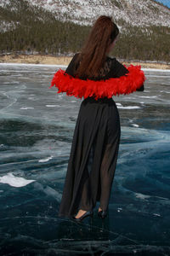
[[[0,6],[11,1],[0,0]],[[48,9],[58,20],[71,20],[81,25],[92,25],[99,15],[111,15],[119,26],[170,26],[170,9],[154,0],[30,0],[27,2]]]

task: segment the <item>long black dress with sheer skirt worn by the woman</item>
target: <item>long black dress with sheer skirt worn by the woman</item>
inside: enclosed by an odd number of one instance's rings
[[[74,76],[77,55],[65,73]],[[119,78],[128,73],[116,58],[107,57],[99,79]],[[86,78],[80,78],[86,79]],[[93,79],[93,78],[91,78]],[[144,85],[139,90],[144,90]],[[59,216],[71,217],[79,209],[108,209],[121,137],[119,112],[112,98],[88,96],[80,106],[71,144]]]

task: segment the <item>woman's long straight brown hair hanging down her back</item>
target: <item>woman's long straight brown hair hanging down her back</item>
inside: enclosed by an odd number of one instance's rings
[[[119,29],[110,16],[99,16],[77,59],[80,61],[75,73],[78,77],[98,76],[100,67],[105,63],[107,49],[118,33]]]

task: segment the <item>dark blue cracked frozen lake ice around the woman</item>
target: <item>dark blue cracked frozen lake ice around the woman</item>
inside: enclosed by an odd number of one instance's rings
[[[144,70],[144,92],[113,97],[109,214],[77,224],[57,214],[81,99],[48,88],[56,69],[0,65],[0,255],[170,255],[170,72]]]

